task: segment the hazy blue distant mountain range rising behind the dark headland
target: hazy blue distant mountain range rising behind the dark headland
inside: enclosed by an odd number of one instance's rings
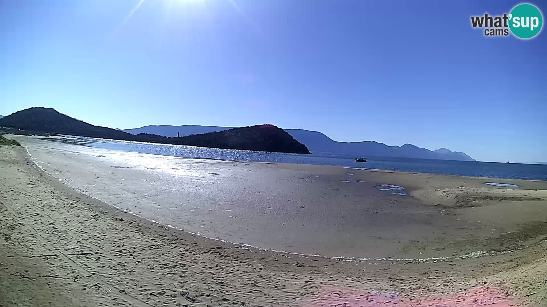
[[[175,137],[177,133],[183,135],[218,132],[228,130],[234,127],[218,127],[218,126],[144,126],[141,128],[124,129],[121,131],[132,134],[151,133],[159,134],[165,137]],[[423,159],[439,159],[439,160],[459,160],[459,161],[475,161],[473,158],[463,152],[451,151],[446,148],[437,150],[429,150],[422,147],[417,147],[412,144],[404,144],[403,146],[388,146],[375,141],[360,141],[360,142],[339,142],[330,139],[327,135],[304,129],[284,129],[300,143],[305,144],[310,151],[322,152],[337,152],[341,154],[354,154],[357,156],[380,156],[380,157],[402,157],[402,158],[423,158]]]

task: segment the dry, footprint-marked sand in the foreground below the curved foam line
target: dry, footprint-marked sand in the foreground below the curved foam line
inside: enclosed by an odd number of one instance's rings
[[[433,267],[241,249],[158,227],[71,190],[34,169],[21,147],[2,146],[1,157],[3,305],[316,306],[333,300],[325,291],[367,298],[397,292],[428,302],[453,293],[490,297],[494,288],[509,288],[498,297],[503,302],[546,302],[545,244]],[[531,289],[537,293],[523,297]]]

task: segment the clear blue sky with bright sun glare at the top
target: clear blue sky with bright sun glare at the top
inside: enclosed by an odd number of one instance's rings
[[[139,2],[2,1],[0,114],[273,123],[547,161],[547,33],[487,38],[470,26],[520,2],[146,0],[129,16]]]

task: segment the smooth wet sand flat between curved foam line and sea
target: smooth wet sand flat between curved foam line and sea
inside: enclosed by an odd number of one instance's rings
[[[92,197],[162,225],[263,249],[461,257],[512,250],[547,234],[545,181],[189,159],[15,138],[46,172]],[[534,235],[501,237],[522,231]]]

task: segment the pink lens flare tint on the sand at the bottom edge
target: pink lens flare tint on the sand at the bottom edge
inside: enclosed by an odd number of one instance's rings
[[[302,307],[511,307],[526,306],[529,302],[515,298],[508,291],[493,287],[482,287],[461,294],[444,297],[401,296],[397,292],[382,294],[340,288],[325,289],[316,298],[308,300]]]

